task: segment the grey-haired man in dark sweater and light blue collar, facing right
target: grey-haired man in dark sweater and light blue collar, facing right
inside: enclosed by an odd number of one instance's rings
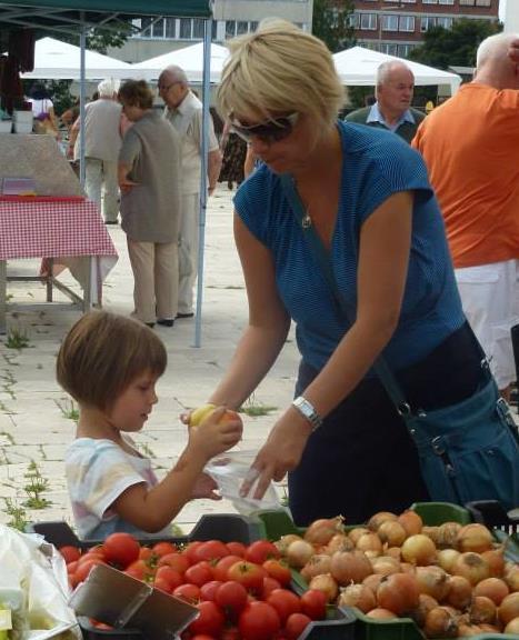
[[[411,107],[413,91],[415,76],[407,64],[398,60],[382,62],[377,70],[377,102],[352,111],[346,120],[388,129],[410,142],[426,117]]]

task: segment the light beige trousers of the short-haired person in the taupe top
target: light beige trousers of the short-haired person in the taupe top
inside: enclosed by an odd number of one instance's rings
[[[178,310],[178,243],[136,242],[127,237],[133,271],[133,314],[142,322],[172,320]]]

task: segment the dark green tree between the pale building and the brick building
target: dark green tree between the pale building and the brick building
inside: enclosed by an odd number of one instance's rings
[[[355,28],[350,17],[353,14],[351,0],[315,0],[312,33],[320,38],[332,53],[353,47]]]

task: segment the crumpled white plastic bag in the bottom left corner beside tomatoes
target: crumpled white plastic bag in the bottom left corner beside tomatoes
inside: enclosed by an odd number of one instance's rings
[[[12,640],[80,638],[68,606],[70,587],[62,556],[41,536],[0,524],[0,607],[12,618]],[[62,636],[64,637],[64,636]]]

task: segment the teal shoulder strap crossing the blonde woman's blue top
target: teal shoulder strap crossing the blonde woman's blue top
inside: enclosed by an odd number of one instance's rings
[[[331,260],[329,257],[328,251],[326,250],[325,246],[321,242],[321,239],[313,230],[312,223],[310,218],[308,217],[305,207],[301,202],[299,193],[296,189],[296,184],[293,181],[292,176],[288,173],[283,173],[280,176],[281,186],[285,191],[285,196],[287,197],[290,208],[296,217],[296,220],[301,224],[303,236],[308,241],[310,248],[312,249],[319,266],[322,270],[322,274],[328,283],[328,287],[333,296],[333,301],[338,309],[343,313],[350,324],[355,322],[355,311],[348,304],[343,296],[340,293],[336,277],[333,274],[333,269],[331,266]],[[409,403],[406,401],[406,397],[403,391],[393,376],[391,369],[389,368],[386,359],[382,356],[379,356],[378,359],[373,362],[373,369],[377,376],[379,377],[382,386],[385,387],[388,396],[391,398],[397,411],[402,416],[402,418],[409,417],[411,412],[411,408]]]

